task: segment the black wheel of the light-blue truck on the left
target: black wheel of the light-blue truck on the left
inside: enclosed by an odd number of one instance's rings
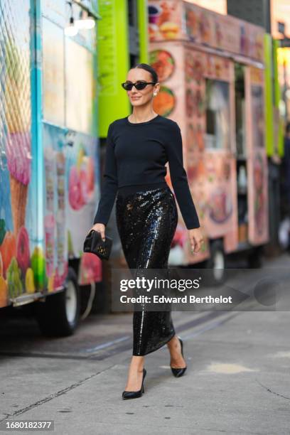
[[[69,267],[65,289],[36,302],[35,316],[45,336],[72,335],[80,318],[80,289],[75,271]]]

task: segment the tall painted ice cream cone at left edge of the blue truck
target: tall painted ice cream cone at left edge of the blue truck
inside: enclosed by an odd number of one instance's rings
[[[26,27],[26,30],[28,28]],[[14,235],[24,225],[31,178],[31,84],[29,39],[19,45],[14,38],[4,44],[4,110],[7,125],[6,159],[10,173]]]

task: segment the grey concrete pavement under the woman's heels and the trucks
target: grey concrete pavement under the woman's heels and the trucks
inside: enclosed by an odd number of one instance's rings
[[[285,254],[268,265],[288,264]],[[43,339],[34,321],[9,321],[1,419],[52,419],[55,434],[290,434],[289,311],[173,312],[173,320],[186,375],[173,377],[167,348],[157,350],[146,357],[145,394],[128,401],[131,314],[90,316],[58,339]]]

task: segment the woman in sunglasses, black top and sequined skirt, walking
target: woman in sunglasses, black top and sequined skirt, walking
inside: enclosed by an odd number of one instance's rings
[[[188,229],[192,252],[203,242],[200,223],[183,168],[181,130],[171,119],[156,114],[153,98],[159,92],[154,68],[139,63],[122,83],[133,106],[129,117],[109,124],[104,185],[92,230],[104,230],[116,200],[116,220],[129,269],[167,269],[176,231],[176,202],[164,177],[168,161],[173,190]],[[171,371],[186,371],[183,342],[178,338],[171,311],[134,311],[133,353],[123,399],[144,392],[144,355],[167,344]]]

